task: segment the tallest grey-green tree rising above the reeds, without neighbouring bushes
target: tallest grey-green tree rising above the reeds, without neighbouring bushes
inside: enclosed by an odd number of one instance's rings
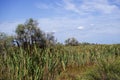
[[[38,28],[38,22],[30,18],[25,24],[19,24],[16,28],[16,42],[26,47],[28,45],[38,44],[45,46],[45,33]]]

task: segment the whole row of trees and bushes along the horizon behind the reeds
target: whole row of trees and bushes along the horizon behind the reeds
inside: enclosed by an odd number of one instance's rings
[[[0,32],[0,47],[17,46],[27,48],[28,46],[37,46],[46,48],[54,45],[89,45],[90,43],[79,43],[74,37],[65,40],[65,44],[57,42],[54,33],[45,33],[38,27],[38,22],[32,18],[28,19],[24,24],[18,24],[15,36],[8,36]]]

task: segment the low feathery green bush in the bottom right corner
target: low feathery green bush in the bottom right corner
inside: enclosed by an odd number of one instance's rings
[[[120,80],[120,57],[99,59],[98,63],[88,70],[81,80]]]

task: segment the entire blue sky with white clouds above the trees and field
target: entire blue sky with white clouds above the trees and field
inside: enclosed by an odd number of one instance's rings
[[[0,32],[33,18],[59,42],[120,43],[120,0],[0,0]]]

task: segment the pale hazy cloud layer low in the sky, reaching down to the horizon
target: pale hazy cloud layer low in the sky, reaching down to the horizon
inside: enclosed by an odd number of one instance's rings
[[[108,20],[107,18],[105,18]],[[76,37],[80,41],[87,42],[99,42],[103,39],[103,36],[108,38],[111,36],[112,40],[120,35],[120,23],[113,19],[109,21],[103,21],[102,18],[41,18],[38,20],[40,28],[46,32],[55,33],[55,37],[60,41],[64,42],[69,37]],[[0,24],[2,32],[14,33],[16,26],[21,22],[4,22]],[[24,23],[24,22],[22,22]],[[94,25],[94,24],[95,25]],[[111,24],[111,25],[106,25]],[[79,26],[82,25],[82,26]],[[93,26],[94,25],[94,26]],[[9,27],[8,27],[9,26]],[[76,26],[78,26],[76,28]],[[78,29],[78,30],[77,30]],[[81,30],[81,31],[79,31]],[[120,40],[118,38],[118,40]],[[115,40],[117,41],[117,40]]]

